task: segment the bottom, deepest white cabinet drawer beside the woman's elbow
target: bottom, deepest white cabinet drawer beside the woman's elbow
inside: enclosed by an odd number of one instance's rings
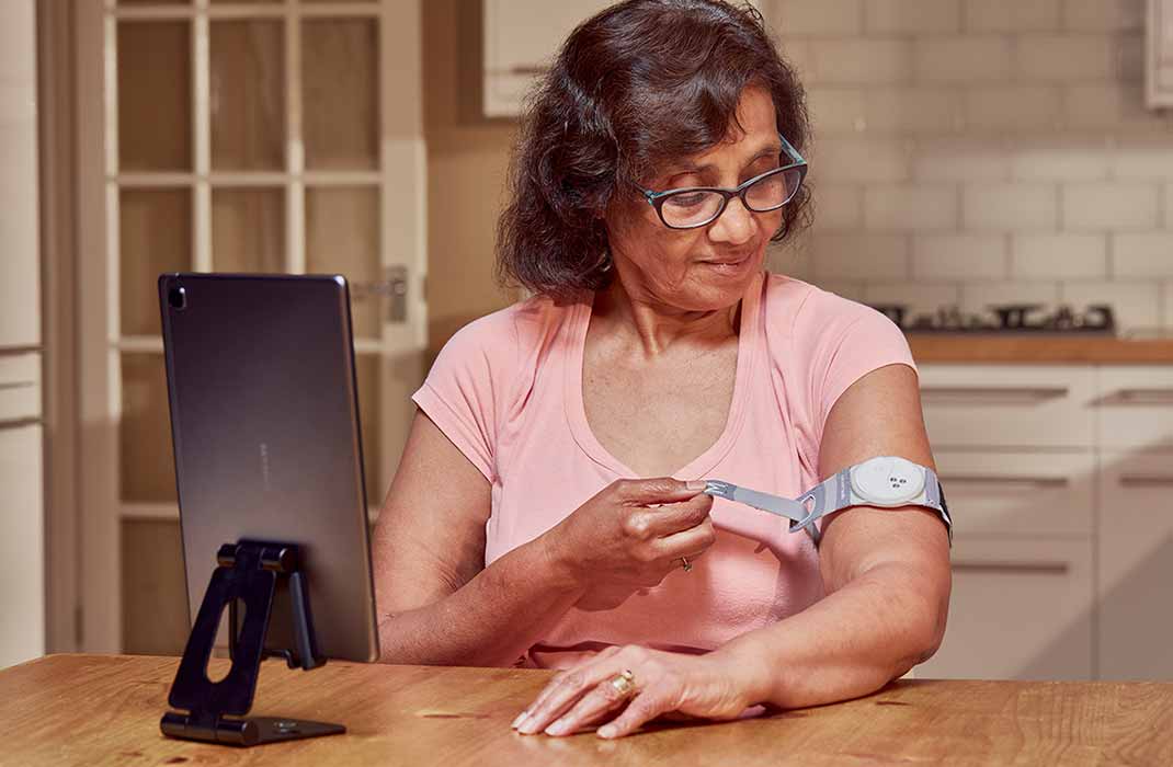
[[[1090,679],[1091,541],[954,544],[941,649],[918,679]]]

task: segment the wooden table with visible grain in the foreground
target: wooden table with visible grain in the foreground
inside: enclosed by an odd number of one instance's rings
[[[177,663],[50,656],[0,671],[0,763],[1173,765],[1173,684],[896,681],[833,706],[604,741],[509,729],[544,671],[270,661],[253,713],[348,732],[240,749],[160,734]]]

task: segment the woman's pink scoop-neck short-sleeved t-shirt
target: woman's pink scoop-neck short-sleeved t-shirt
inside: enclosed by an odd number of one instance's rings
[[[636,476],[595,439],[583,408],[592,299],[556,305],[538,296],[468,324],[412,398],[491,482],[486,564]],[[808,283],[762,273],[743,301],[725,430],[673,476],[794,497],[819,482],[822,426],[839,395],[884,365],[916,366],[888,318]],[[616,644],[705,652],[823,596],[805,532],[721,498],[712,520],[717,542],[691,572],[672,572],[613,610],[571,609],[524,661],[567,667]]]

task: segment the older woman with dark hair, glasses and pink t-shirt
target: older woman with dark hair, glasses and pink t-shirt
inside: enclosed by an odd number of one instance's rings
[[[611,738],[866,694],[933,654],[930,510],[856,505],[816,548],[701,491],[933,466],[900,331],[765,271],[808,142],[750,8],[629,0],[570,35],[500,228],[534,296],[456,333],[414,396],[374,534],[382,660],[564,668],[514,726]]]

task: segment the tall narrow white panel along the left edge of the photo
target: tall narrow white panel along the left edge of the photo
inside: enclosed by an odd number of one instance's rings
[[[45,653],[34,0],[0,2],[0,667]]]

